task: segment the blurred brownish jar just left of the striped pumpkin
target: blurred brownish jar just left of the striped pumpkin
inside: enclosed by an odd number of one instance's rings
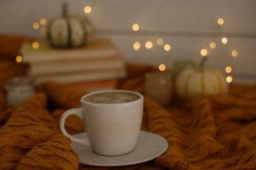
[[[171,74],[160,71],[146,73],[144,93],[158,101],[163,107],[170,105],[173,95]]]

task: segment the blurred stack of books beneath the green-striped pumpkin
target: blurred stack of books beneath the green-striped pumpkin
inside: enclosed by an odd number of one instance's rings
[[[37,84],[54,80],[81,88],[114,88],[126,76],[123,57],[110,39],[96,39],[84,48],[72,49],[52,48],[47,42],[33,48],[32,42],[24,42],[20,52]]]

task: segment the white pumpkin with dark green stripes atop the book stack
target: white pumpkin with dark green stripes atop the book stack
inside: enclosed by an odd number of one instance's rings
[[[93,39],[93,25],[85,16],[68,16],[64,4],[62,16],[47,24],[47,41],[54,48],[83,47]]]

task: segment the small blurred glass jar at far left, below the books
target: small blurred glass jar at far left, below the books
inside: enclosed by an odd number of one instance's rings
[[[17,105],[35,94],[34,82],[29,77],[17,76],[7,80],[7,105]]]

